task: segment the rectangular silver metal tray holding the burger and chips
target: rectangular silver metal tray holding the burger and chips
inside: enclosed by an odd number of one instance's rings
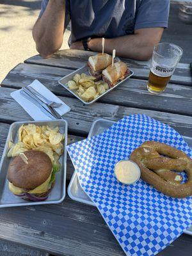
[[[42,202],[26,201],[19,196],[13,195],[8,188],[8,180],[6,179],[6,173],[12,157],[8,158],[8,141],[12,140],[13,143],[18,141],[18,130],[22,124],[36,124],[36,125],[49,125],[50,127],[58,126],[60,132],[65,134],[64,141],[64,153],[60,157],[61,170],[56,173],[56,182],[54,188],[47,200]],[[22,205],[40,205],[40,204],[59,204],[65,198],[65,182],[66,182],[66,163],[67,163],[67,121],[65,120],[51,120],[51,121],[29,121],[29,122],[15,122],[10,126],[8,137],[3,151],[3,156],[0,163],[0,207],[15,207]]]

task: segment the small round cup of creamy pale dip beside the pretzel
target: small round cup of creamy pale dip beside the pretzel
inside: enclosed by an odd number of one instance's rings
[[[134,184],[140,179],[140,167],[131,160],[121,160],[115,164],[115,176],[122,184]]]

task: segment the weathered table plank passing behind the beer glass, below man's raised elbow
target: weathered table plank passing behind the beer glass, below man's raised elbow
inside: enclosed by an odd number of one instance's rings
[[[38,65],[48,65],[52,67],[76,69],[82,67],[95,52],[79,51],[79,50],[61,50],[56,52],[51,58],[44,59],[40,55],[33,56],[25,61],[25,63],[33,63]],[[148,79],[150,61],[136,61],[122,58],[134,71],[134,77],[138,79]],[[186,84],[192,86],[192,77],[189,64],[179,63],[170,80],[170,83]]]

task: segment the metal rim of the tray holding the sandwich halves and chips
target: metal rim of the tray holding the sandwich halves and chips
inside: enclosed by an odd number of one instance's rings
[[[68,74],[67,76],[62,77],[58,83],[61,84],[61,86],[63,86],[63,88],[65,88],[66,90],[68,90],[68,92],[72,93],[77,99],[81,100],[81,102],[83,102],[83,104],[85,105],[90,105],[93,104],[95,101],[99,100],[102,96],[104,96],[106,93],[111,92],[112,90],[114,90],[117,86],[119,86],[120,84],[124,83],[124,81],[126,81],[127,79],[129,79],[130,77],[132,77],[134,75],[134,71],[129,68],[129,70],[131,71],[131,74],[129,74],[129,76],[125,77],[125,79],[123,79],[122,81],[119,81],[118,83],[115,84],[115,86],[113,86],[112,88],[109,88],[106,92],[102,93],[101,95],[99,95],[99,97],[97,97],[96,99],[93,99],[90,102],[86,102],[83,99],[81,99],[76,93],[74,93],[72,90],[70,90],[65,84],[61,83],[61,80],[63,80],[64,78],[66,79],[68,76],[71,76],[72,74],[77,74],[79,71],[81,72],[81,70],[83,70],[84,68],[86,68],[87,65],[85,64],[83,67],[78,68],[77,70],[75,70],[74,72],[71,72],[70,74]]]

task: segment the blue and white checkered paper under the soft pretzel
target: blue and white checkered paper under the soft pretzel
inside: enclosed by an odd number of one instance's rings
[[[127,255],[156,255],[191,224],[190,198],[163,195],[143,180],[125,186],[115,164],[129,159],[144,141],[154,140],[192,156],[179,133],[145,115],[123,118],[102,134],[67,147],[79,182]]]

